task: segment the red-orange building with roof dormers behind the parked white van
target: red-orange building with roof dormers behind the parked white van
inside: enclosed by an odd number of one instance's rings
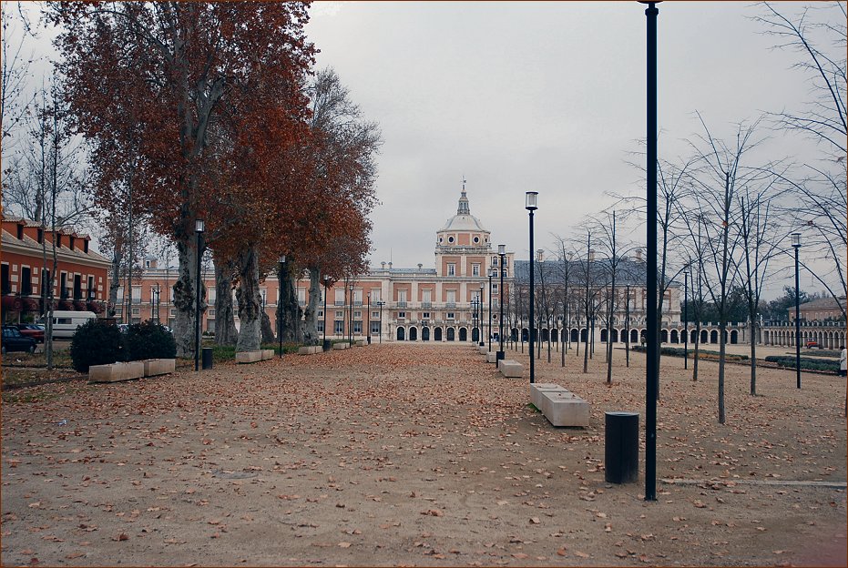
[[[73,230],[54,233],[34,221],[3,216],[3,322],[36,320],[46,311],[43,282],[53,269],[54,247],[54,308],[103,313],[109,262],[90,249],[90,240]]]

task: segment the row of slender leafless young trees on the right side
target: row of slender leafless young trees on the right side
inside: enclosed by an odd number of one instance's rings
[[[788,276],[792,270],[791,233],[802,234],[802,270],[836,301],[843,321],[845,308],[839,299],[846,291],[848,237],[845,5],[822,5],[790,17],[763,4],[761,12],[755,19],[774,35],[777,47],[799,53],[796,67],[812,85],[810,106],[741,121],[727,137],[717,135],[706,118],[696,112],[700,132],[690,137],[689,153],[658,161],[656,211],[659,319],[663,320],[668,311],[669,287],[681,286],[687,279],[687,318],[695,322],[698,337],[701,321],[716,321],[720,337],[725,337],[729,321],[748,320],[751,395],[757,394],[760,316],[774,317],[782,312],[781,319],[786,317],[785,302],[775,300],[770,307],[762,301],[762,293],[780,272]],[[768,143],[775,131],[789,137],[793,144],[800,144],[802,137],[812,138],[815,154],[803,161],[773,158]],[[584,324],[598,320],[603,328],[616,319],[621,321],[627,287],[622,282],[635,281],[633,263],[626,259],[640,246],[641,236],[636,230],[647,218],[646,200],[644,188],[633,194],[610,196],[615,201],[611,208],[585,219],[571,235],[556,237],[557,246],[548,251],[556,262],[536,263],[537,326],[555,316]],[[601,260],[594,260],[595,254]],[[644,264],[641,266],[637,280],[644,283]],[[556,283],[549,285],[553,281]],[[526,290],[518,287],[515,292],[509,298],[510,318],[520,329],[518,322],[527,311],[523,305]],[[607,346],[607,380],[611,380],[611,343]],[[694,347],[692,379],[697,380],[697,342]],[[565,364],[565,350],[562,357]],[[589,350],[585,349],[584,372],[588,357]],[[724,363],[725,344],[720,342],[721,423],[725,420]]]

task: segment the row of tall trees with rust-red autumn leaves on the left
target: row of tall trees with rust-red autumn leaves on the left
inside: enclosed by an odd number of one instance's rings
[[[58,56],[44,102],[15,97],[23,92],[15,92],[15,73],[26,62],[10,60],[4,101],[15,104],[4,108],[29,109],[15,114],[15,125],[33,126],[26,149],[9,160],[14,191],[4,200],[57,227],[78,219],[56,218],[45,196],[84,202],[79,210],[102,228],[101,249],[113,261],[112,309],[151,238],[173,249],[179,355],[194,350],[199,296],[206,309],[195,278],[199,249],[214,259],[217,339],[239,350],[261,342],[265,275],[281,279],[284,335],[312,341],[314,323],[295,325],[294,280],[308,270],[313,322],[322,275],[342,279],[365,268],[381,133],[332,69],[313,70],[309,4],[50,3],[41,17],[59,30]],[[4,9],[5,25],[14,15]],[[5,76],[4,69],[4,88]],[[5,135],[15,125],[4,112]]]

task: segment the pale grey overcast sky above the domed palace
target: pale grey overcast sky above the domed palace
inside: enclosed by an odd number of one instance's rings
[[[795,14],[799,3],[779,3]],[[35,11],[35,6],[33,8]],[[364,116],[380,123],[373,266],[433,266],[435,231],[456,212],[463,177],[471,212],[526,259],[525,192],[539,192],[536,248],[569,237],[608,192],[635,193],[644,174],[645,6],[636,2],[317,2],[307,34]],[[714,134],[810,98],[797,54],[751,20],[751,3],[659,4],[659,156],[688,157],[699,111]],[[53,53],[42,30],[36,56]],[[36,70],[46,70],[39,64]],[[811,156],[797,135],[762,129],[768,158]],[[644,242],[644,228],[633,238]],[[767,297],[790,284],[771,281]],[[784,279],[785,277],[785,279]],[[818,289],[808,278],[802,287]]]

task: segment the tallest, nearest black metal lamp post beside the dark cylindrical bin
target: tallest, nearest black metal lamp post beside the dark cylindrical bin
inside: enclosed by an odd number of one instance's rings
[[[657,354],[659,330],[657,320],[657,9],[649,2],[645,10],[648,24],[648,352],[645,373],[645,501],[657,500],[657,386],[659,369]]]

